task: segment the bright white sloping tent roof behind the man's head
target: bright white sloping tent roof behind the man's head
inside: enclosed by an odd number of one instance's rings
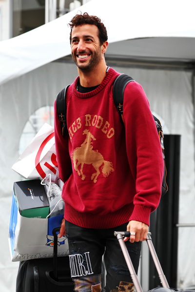
[[[195,37],[194,0],[186,0],[185,4],[181,0],[91,0],[80,6],[79,11],[98,15],[103,20],[110,43],[137,38]],[[77,12],[74,10],[16,38],[1,41],[0,84],[69,55],[67,24]],[[195,50],[191,52],[195,58]]]

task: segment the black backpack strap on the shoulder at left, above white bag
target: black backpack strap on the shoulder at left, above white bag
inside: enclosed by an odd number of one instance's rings
[[[59,120],[61,122],[62,136],[65,135],[66,125],[66,92],[70,85],[67,85],[62,89],[56,97],[56,107]]]

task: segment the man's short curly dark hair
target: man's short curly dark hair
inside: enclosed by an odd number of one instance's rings
[[[76,16],[74,16],[73,19],[69,23],[69,26],[71,28],[70,43],[72,39],[73,27],[82,25],[82,24],[94,24],[98,27],[98,30],[99,30],[98,37],[99,37],[100,45],[102,45],[102,43],[108,39],[107,30],[104,24],[101,22],[101,19],[99,19],[97,16],[89,15],[87,12],[84,12],[83,15],[77,14]]]

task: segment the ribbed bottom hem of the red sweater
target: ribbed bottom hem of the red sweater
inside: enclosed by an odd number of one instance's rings
[[[134,210],[133,203],[125,205],[121,209],[113,213],[105,215],[94,215],[90,213],[81,213],[66,203],[64,218],[80,227],[93,229],[114,228],[126,222]]]

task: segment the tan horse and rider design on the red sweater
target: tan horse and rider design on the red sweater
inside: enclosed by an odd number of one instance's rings
[[[99,167],[102,165],[101,172],[103,176],[106,177],[110,175],[111,172],[114,172],[113,164],[110,161],[104,160],[98,150],[93,150],[92,142],[93,140],[95,141],[96,138],[89,132],[89,130],[85,129],[82,135],[86,135],[84,142],[80,147],[77,147],[72,154],[74,168],[78,175],[81,175],[81,179],[84,180],[85,175],[83,174],[83,166],[84,164],[92,164],[96,172],[91,175],[91,180],[96,183],[98,175],[100,174]],[[78,169],[79,165],[80,170]]]

